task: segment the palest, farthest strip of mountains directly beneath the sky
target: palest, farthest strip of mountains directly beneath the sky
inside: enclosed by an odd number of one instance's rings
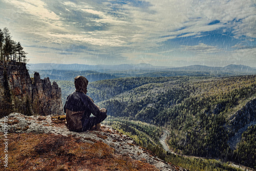
[[[248,73],[256,74],[256,68],[251,68],[243,65],[228,65],[226,67],[208,67],[202,65],[193,65],[186,67],[167,68],[160,66],[153,66],[147,63],[122,64],[122,65],[83,65],[83,64],[59,64],[59,63],[29,63],[28,68],[30,71],[38,70],[70,70],[70,71],[98,71],[101,73],[122,73],[122,74],[145,74],[150,72],[161,71],[193,71],[193,72],[234,72],[234,73]],[[125,72],[124,72],[125,71]]]

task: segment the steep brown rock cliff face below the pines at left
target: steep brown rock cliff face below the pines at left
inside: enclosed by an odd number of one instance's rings
[[[39,73],[34,74],[32,81],[25,63],[1,62],[0,82],[0,99],[6,98],[9,91],[14,111],[39,115],[61,115],[63,112],[61,89],[57,83],[51,84],[49,78],[40,79]]]

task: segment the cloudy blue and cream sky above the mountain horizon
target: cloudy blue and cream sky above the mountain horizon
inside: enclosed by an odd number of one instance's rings
[[[255,0],[0,0],[28,63],[256,67]]]

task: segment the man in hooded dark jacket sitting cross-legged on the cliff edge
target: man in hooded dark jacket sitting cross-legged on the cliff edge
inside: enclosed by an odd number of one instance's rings
[[[67,97],[64,105],[66,126],[70,131],[83,132],[93,126],[100,129],[100,122],[106,118],[106,109],[99,109],[91,97],[87,96],[88,80],[86,77],[75,77],[76,91]],[[93,114],[94,117],[90,117]]]

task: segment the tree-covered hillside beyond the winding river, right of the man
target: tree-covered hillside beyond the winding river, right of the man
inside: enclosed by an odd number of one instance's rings
[[[240,139],[236,133],[256,121],[256,75],[100,80],[89,83],[88,95],[113,117],[165,126],[167,143],[176,153],[256,167],[255,153],[247,149],[243,156],[252,160],[240,160],[244,144],[232,149],[229,141]],[[246,148],[252,143],[246,141]]]

